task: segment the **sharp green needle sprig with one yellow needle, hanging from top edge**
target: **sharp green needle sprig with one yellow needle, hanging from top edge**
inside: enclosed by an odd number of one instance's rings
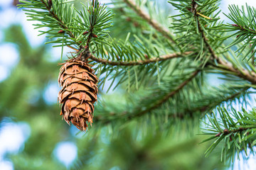
[[[175,30],[175,34],[178,35],[176,41],[183,50],[198,51],[198,60],[204,60],[206,62],[208,58],[208,52],[204,42],[204,34],[206,34],[208,43],[217,52],[223,52],[222,42],[218,39],[221,34],[216,33],[213,29],[220,25],[218,20],[218,1],[169,1],[180,13],[173,18],[171,28]],[[221,49],[221,50],[220,50]]]

